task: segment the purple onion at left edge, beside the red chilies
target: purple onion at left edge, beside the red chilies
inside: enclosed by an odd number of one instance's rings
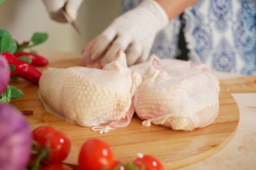
[[[7,60],[0,54],[0,96],[9,83],[10,72]]]

